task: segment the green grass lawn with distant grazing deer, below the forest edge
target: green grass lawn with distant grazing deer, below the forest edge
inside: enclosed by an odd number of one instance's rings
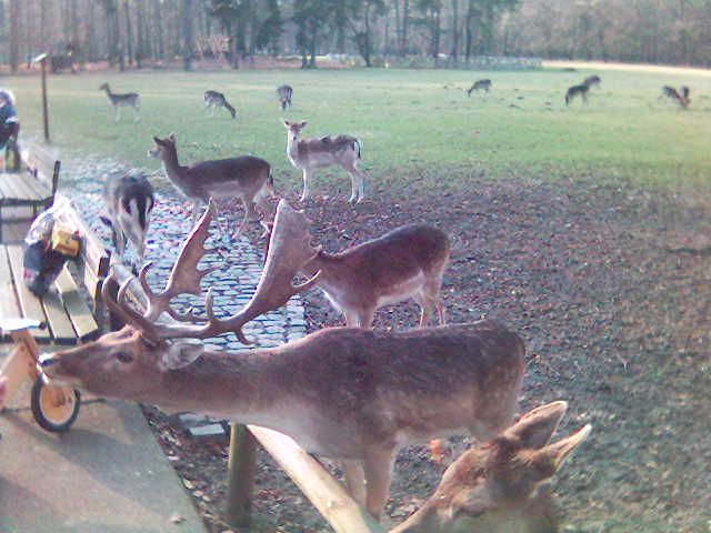
[[[178,134],[181,162],[256,154],[276,169],[278,183],[297,190],[299,173],[284,154],[280,118],[308,120],[307,134],[350,133],[363,144],[362,168],[373,181],[424,178],[423,187],[464,183],[467,175],[534,179],[632,179],[642,185],[708,185],[711,167],[711,77],[602,71],[590,103],[563,103],[563,92],[592,71],[468,72],[454,70],[318,70],[131,72],[49,79],[52,141],[63,153],[94,154],[157,169],[146,151],[152,135]],[[462,90],[491,78],[490,94]],[[98,87],[141,94],[113,123]],[[274,89],[294,88],[294,104],[278,108]],[[24,131],[40,137],[40,81],[6,78]],[[658,101],[663,84],[688,84],[691,108]],[[445,86],[450,87],[449,89]],[[206,115],[206,89],[223,92],[238,109]],[[327,172],[317,174],[328,179]],[[338,179],[340,172],[336,173]]]

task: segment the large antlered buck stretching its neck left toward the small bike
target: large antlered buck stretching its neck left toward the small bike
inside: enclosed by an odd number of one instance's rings
[[[244,342],[248,321],[313,285],[320,274],[293,285],[312,254],[303,233],[294,231],[294,213],[280,202],[257,291],[234,315],[214,316],[210,290],[206,323],[157,322],[176,294],[200,291],[206,271],[197,264],[206,253],[210,207],[183,244],[167,289],[146,291],[142,313],[126,299],[132,279],[116,300],[104,283],[108,309],[128,325],[44,354],[39,368],[47,380],[94,394],[280,431],[310,453],[342,461],[351,494],[380,519],[401,445],[462,432],[488,440],[511,423],[525,365],[523,342],[493,321],[405,332],[330,328],[240,353],[176,341],[231,331]]]

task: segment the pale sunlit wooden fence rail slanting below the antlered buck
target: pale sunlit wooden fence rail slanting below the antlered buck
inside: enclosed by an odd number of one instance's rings
[[[266,428],[248,428],[337,533],[385,533],[383,526],[291,438]]]

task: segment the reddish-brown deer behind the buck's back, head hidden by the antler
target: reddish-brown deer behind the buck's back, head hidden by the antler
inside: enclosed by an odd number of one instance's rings
[[[294,215],[297,218],[297,215]],[[299,214],[299,228],[309,242],[309,225]],[[267,239],[270,245],[271,234]],[[331,305],[343,313],[346,325],[370,328],[379,308],[414,299],[421,308],[420,328],[429,324],[432,308],[444,325],[440,298],[442,273],[449,261],[447,234],[425,224],[409,224],[342,252],[310,248],[313,258],[300,272],[320,272],[316,284]]]

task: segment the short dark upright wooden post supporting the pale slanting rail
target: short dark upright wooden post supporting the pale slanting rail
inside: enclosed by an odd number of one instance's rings
[[[242,424],[232,424],[227,471],[227,520],[232,527],[249,527],[257,467],[257,441]]]

